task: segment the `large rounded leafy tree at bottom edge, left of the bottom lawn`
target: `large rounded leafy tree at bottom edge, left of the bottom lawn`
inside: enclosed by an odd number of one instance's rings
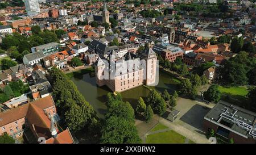
[[[105,120],[101,130],[101,143],[110,144],[138,144],[141,139],[134,123],[124,118],[111,116]]]

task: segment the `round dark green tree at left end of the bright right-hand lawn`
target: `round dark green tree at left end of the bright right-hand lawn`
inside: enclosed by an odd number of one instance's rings
[[[221,92],[218,90],[218,85],[211,85],[209,89],[204,92],[204,98],[217,103],[221,99]]]

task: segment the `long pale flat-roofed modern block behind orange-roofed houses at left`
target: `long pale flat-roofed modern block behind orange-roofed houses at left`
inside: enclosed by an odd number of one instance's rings
[[[60,44],[58,43],[48,43],[44,45],[39,45],[37,47],[31,48],[32,53],[43,52],[45,56],[51,55],[53,53],[60,51]]]

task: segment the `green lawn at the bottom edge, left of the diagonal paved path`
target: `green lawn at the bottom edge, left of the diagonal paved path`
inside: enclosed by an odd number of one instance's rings
[[[147,144],[183,144],[185,137],[175,131],[167,131],[148,135]],[[189,141],[190,143],[190,141]]]

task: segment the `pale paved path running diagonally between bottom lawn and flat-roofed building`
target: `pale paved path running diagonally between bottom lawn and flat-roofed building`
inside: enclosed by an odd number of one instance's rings
[[[166,127],[173,129],[180,135],[183,135],[184,137],[187,137],[187,139],[192,140],[195,143],[199,144],[209,144],[208,139],[204,135],[200,135],[199,133],[195,131],[191,131],[179,124],[172,123],[167,119],[160,118],[160,123],[163,125],[166,125]]]

